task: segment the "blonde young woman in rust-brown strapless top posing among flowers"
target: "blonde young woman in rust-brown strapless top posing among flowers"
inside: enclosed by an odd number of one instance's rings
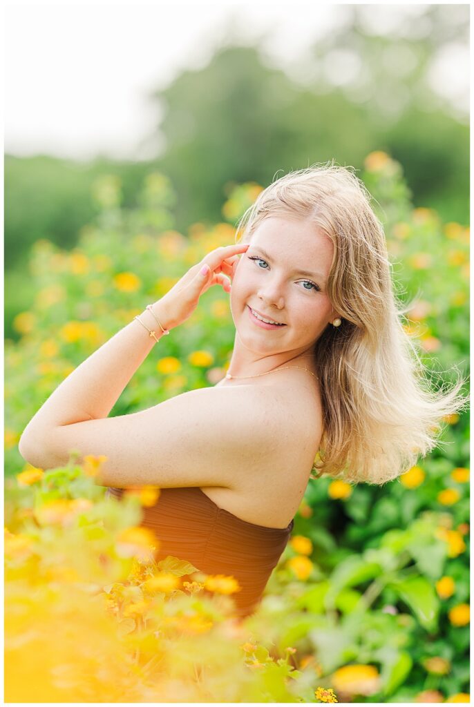
[[[160,487],[142,521],[159,556],[233,575],[244,616],[282,554],[311,472],[395,479],[434,447],[441,418],[465,399],[462,381],[443,394],[424,385],[383,228],[351,170],[285,175],[244,214],[238,235],[81,363],[25,428],[20,451],[43,469],[72,449],[105,455],[99,482],[116,496]],[[156,342],[179,336],[214,285],[230,291],[236,326],[226,377],[109,418]]]

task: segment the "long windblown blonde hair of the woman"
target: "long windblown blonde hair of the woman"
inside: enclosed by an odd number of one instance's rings
[[[395,296],[383,226],[352,170],[316,164],[272,182],[238,221],[236,243],[248,243],[270,216],[309,221],[333,242],[327,293],[342,322],[313,349],[323,404],[313,478],[385,484],[441,445],[441,419],[468,403],[463,380],[430,389],[400,321],[410,307]]]

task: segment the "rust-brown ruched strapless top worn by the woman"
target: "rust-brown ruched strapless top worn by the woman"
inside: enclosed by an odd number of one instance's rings
[[[106,495],[122,493],[110,488]],[[286,528],[270,528],[237,518],[197,486],[161,489],[156,504],[142,512],[141,525],[160,541],[157,561],[173,555],[206,574],[236,578],[241,591],[231,596],[240,617],[255,611],[294,525],[291,520]]]

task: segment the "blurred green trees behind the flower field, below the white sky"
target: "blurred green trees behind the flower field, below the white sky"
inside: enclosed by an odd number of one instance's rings
[[[271,65],[258,42],[231,44],[152,92],[157,117],[149,137],[164,146],[154,159],[6,153],[6,337],[18,339],[13,318],[33,303],[31,246],[47,239],[74,247],[81,227],[98,214],[91,187],[104,173],[120,177],[129,209],[139,205],[144,175],[166,175],[175,192],[169,226],[186,234],[197,221],[219,221],[235,185],[267,185],[276,173],[333,158],[360,169],[368,153],[382,150],[403,165],[415,206],[466,225],[468,122],[434,91],[432,74],[435,57],[452,62],[456,47],[466,47],[468,6],[427,5],[406,18],[403,31],[383,33],[367,25],[371,6],[338,7],[345,23],[315,42],[311,62],[302,60],[291,76]],[[383,20],[383,9],[378,16]]]

